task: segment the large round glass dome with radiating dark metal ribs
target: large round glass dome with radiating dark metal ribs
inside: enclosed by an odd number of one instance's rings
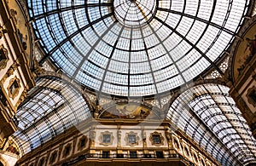
[[[241,0],[28,0],[45,56],[102,93],[175,89],[216,61],[241,26]]]

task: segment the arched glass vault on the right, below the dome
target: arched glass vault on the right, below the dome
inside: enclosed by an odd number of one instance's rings
[[[256,162],[256,140],[224,85],[205,83],[184,91],[167,118],[222,165]]]

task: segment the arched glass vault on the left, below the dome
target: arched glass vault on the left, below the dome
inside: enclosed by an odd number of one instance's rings
[[[15,117],[19,125],[12,137],[23,155],[89,118],[90,109],[65,79],[39,77]]]

